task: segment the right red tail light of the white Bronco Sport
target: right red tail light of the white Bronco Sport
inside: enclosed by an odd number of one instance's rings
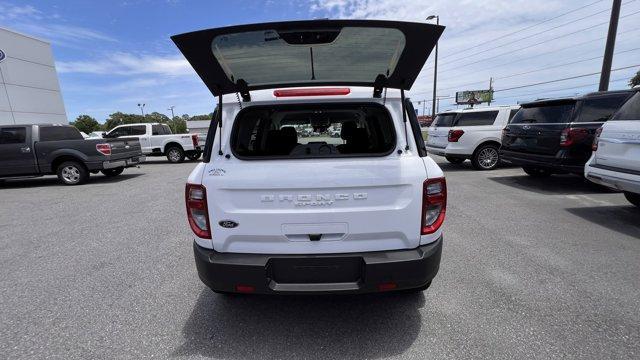
[[[447,181],[444,178],[429,179],[422,185],[421,235],[433,234],[444,223],[447,212]]]

